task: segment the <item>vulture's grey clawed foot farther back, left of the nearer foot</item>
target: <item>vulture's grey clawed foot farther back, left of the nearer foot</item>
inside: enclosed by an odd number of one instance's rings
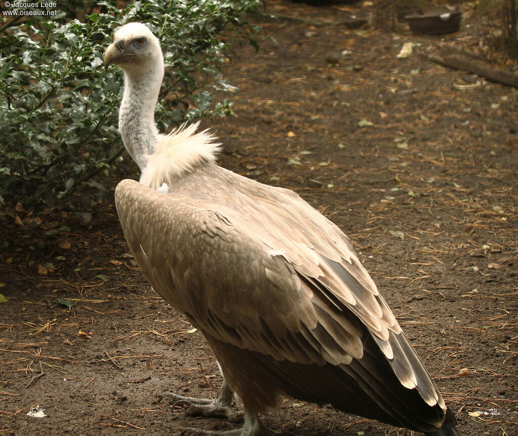
[[[241,412],[234,412],[232,410],[232,393],[225,379],[221,383],[220,392],[214,400],[205,398],[184,397],[172,392],[162,394],[161,398],[171,398],[176,400],[173,404],[186,407],[185,414],[187,416],[205,416],[207,418],[227,418],[230,421],[236,422],[242,420]]]

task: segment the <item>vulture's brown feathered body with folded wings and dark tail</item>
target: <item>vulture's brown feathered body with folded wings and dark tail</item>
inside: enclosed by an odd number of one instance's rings
[[[117,186],[124,234],[248,407],[264,411],[283,392],[411,429],[440,427],[435,383],[335,224],[292,191],[214,164],[169,182],[167,194]]]

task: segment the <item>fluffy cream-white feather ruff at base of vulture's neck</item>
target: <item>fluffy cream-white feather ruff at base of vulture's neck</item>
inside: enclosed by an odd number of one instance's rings
[[[153,189],[164,183],[171,186],[174,178],[205,162],[214,162],[220,151],[220,143],[208,129],[196,133],[199,122],[161,135],[155,144],[155,152],[147,155],[147,165],[140,176],[140,183]]]

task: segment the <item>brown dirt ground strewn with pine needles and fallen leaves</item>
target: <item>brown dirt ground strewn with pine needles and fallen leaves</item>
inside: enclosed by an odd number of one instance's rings
[[[295,19],[260,19],[274,39],[258,53],[236,45],[236,116],[205,121],[221,164],[297,191],[351,237],[463,436],[518,434],[516,91],[419,56],[476,45],[469,19],[415,37],[349,30],[363,12],[352,6],[267,10]],[[397,59],[408,41],[414,53]],[[159,402],[166,390],[213,397],[221,377],[141,276],[111,201],[88,223],[17,213],[0,215],[0,435],[225,428]],[[27,416],[36,405],[47,416]],[[296,400],[264,420],[301,436],[411,434]]]

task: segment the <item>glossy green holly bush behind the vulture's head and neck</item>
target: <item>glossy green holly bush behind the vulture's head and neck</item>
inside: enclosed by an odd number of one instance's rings
[[[260,0],[68,2],[52,17],[0,19],[0,201],[37,209],[102,178],[123,153],[117,130],[121,70],[103,71],[114,28],[146,23],[162,41],[166,74],[155,118],[162,131],[228,115],[236,91],[221,67],[229,39],[253,39]],[[59,7],[59,4],[57,5]],[[90,11],[78,20],[81,8]],[[214,98],[215,96],[218,98]],[[223,95],[223,97],[221,97]],[[97,176],[97,177],[96,177]]]

